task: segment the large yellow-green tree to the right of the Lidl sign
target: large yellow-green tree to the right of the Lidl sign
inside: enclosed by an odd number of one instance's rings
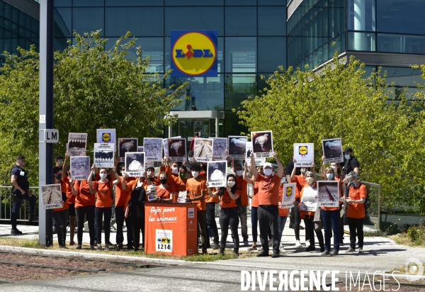
[[[424,210],[424,114],[404,96],[395,102],[385,74],[365,77],[364,64],[353,57],[339,64],[334,57],[321,72],[275,72],[260,96],[242,102],[237,114],[250,131],[273,130],[280,159],[293,155],[293,143],[314,142],[322,163],[321,140],[341,137],[361,163],[361,179],[381,184],[381,203]],[[419,128],[421,132],[419,132]]]

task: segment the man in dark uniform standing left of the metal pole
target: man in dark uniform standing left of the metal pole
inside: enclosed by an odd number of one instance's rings
[[[35,196],[30,193],[30,184],[28,182],[27,172],[25,169],[23,169],[25,164],[25,157],[18,156],[18,158],[16,158],[16,164],[11,170],[11,196],[13,201],[11,213],[11,234],[22,234],[22,232],[16,228],[16,217],[18,216],[18,212],[21,209],[22,200],[27,200],[29,202],[28,213],[30,213],[30,216],[28,221],[33,222],[34,220]]]

